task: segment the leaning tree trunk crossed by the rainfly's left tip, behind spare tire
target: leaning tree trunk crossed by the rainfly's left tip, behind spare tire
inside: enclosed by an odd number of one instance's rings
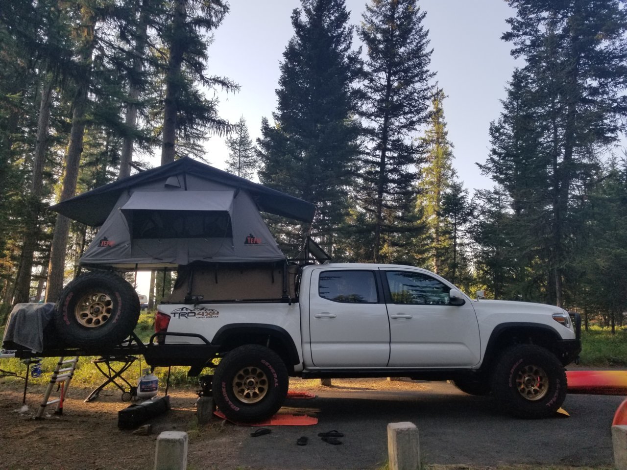
[[[65,175],[61,187],[59,202],[73,197],[78,180],[78,167],[83,152],[83,135],[85,133],[85,112],[88,105],[88,90],[91,78],[92,52],[94,47],[93,13],[83,8],[83,24],[85,25],[85,43],[81,64],[85,68],[83,83],[78,85],[73,102],[72,126],[70,130],[70,145],[65,157]],[[65,254],[70,232],[70,219],[59,214],[56,216],[55,231],[50,246],[50,264],[48,265],[48,282],[46,287],[46,302],[56,302],[63,288],[63,273],[65,271]]]

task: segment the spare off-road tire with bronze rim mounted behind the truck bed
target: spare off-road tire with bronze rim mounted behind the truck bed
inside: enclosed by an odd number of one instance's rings
[[[73,279],[56,303],[55,327],[68,347],[100,352],[133,332],[139,319],[133,286],[109,271],[92,271]]]

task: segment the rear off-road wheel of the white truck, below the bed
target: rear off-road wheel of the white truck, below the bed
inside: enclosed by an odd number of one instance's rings
[[[216,367],[213,399],[234,422],[260,422],[275,415],[287,397],[289,378],[282,358],[259,345],[229,352]]]

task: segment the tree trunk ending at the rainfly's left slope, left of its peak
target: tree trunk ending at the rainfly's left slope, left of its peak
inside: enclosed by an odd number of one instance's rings
[[[124,136],[122,142],[122,155],[120,155],[120,174],[118,179],[130,175],[130,164],[133,161],[133,142],[132,132],[137,128],[137,98],[139,98],[139,76],[144,70],[144,50],[147,40],[148,30],[148,11],[147,6],[149,0],[142,2],[139,13],[139,29],[137,30],[137,39],[135,40],[133,73],[129,83],[129,106],[126,109],[125,124],[127,125],[127,135]]]

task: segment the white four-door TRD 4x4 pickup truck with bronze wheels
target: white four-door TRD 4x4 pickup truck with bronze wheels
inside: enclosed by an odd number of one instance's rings
[[[304,266],[282,301],[258,293],[246,300],[255,286],[241,279],[243,298],[224,291],[218,298],[228,301],[208,303],[189,295],[186,279],[179,283],[185,303],[159,305],[155,331],[166,333],[163,345],[200,341],[176,333],[214,345],[221,357],[214,400],[238,421],[277,412],[289,376],[452,380],[469,394],[491,393],[517,417],[548,417],[566,396],[564,366],[581,352],[578,316],[551,305],[473,300],[411,266]],[[211,282],[220,286],[217,275]]]

